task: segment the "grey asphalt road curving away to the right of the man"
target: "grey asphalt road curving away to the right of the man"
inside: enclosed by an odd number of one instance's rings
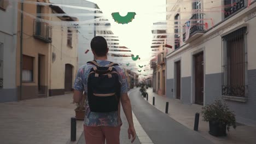
[[[212,143],[196,131],[188,129],[154,106],[148,104],[148,102],[141,97],[139,91],[131,92],[130,99],[133,113],[135,113],[139,123],[141,123],[143,129],[155,144]]]

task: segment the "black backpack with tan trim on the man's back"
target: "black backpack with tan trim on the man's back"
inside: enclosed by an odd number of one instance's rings
[[[88,102],[92,112],[118,111],[120,101],[119,74],[114,68],[116,63],[101,67],[96,61],[88,62],[95,65],[88,75]]]

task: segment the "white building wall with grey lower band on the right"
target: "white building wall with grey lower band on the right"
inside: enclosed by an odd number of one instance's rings
[[[167,56],[167,97],[174,98],[174,62],[181,59],[182,88],[187,89],[189,93],[182,91],[182,101],[191,99],[190,103],[194,103],[194,79],[193,79],[193,55],[196,52],[204,52],[204,104],[211,104],[215,99],[222,97],[222,37],[243,26],[247,27],[246,49],[247,49],[247,79],[246,79],[246,97],[245,103],[233,100],[227,100],[231,110],[237,115],[238,122],[256,123],[256,99],[255,99],[255,79],[256,79],[256,3],[252,3],[250,7],[243,9],[240,13],[232,15],[229,19],[215,26],[211,31],[203,34],[200,38],[191,41],[189,44],[183,45],[180,49],[173,51]],[[213,17],[218,15],[213,14]],[[183,18],[182,18],[183,19]],[[218,21],[223,19],[223,15],[215,18]],[[218,22],[217,21],[217,22]],[[184,79],[185,77],[189,79]],[[183,81],[189,81],[184,83]],[[185,101],[187,102],[187,101]]]

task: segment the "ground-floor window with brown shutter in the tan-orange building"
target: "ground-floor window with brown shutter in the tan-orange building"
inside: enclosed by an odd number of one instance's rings
[[[33,81],[34,58],[30,56],[22,56],[22,81]]]

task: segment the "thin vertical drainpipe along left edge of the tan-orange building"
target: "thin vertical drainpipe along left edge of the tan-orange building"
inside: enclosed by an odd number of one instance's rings
[[[21,3],[21,17],[20,17],[20,100],[22,96],[22,55],[23,55],[23,9],[24,4]]]

